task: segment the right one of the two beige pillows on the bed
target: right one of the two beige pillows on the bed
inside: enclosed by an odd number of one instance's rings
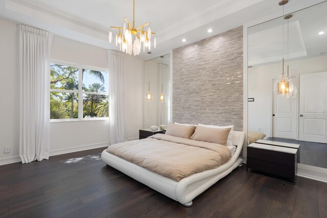
[[[206,141],[226,146],[230,128],[217,129],[197,126],[194,134],[191,136],[192,140]]]

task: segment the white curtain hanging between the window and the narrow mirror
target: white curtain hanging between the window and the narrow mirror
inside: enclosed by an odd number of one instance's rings
[[[126,141],[125,129],[125,55],[108,50],[110,75],[109,139],[110,144]]]

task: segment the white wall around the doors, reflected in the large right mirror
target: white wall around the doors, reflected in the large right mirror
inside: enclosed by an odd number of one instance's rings
[[[290,61],[290,76],[327,71],[327,56]],[[287,71],[286,71],[287,72]],[[266,135],[271,133],[272,80],[282,73],[282,63],[248,68],[248,131],[258,131]]]

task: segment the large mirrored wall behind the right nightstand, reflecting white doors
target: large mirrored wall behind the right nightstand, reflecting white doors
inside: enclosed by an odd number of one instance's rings
[[[249,133],[299,143],[299,162],[323,168],[327,168],[326,11],[323,2],[291,13],[289,19],[283,16],[248,28]],[[289,77],[297,89],[294,96],[274,92],[274,84],[283,78],[283,58],[284,78]]]

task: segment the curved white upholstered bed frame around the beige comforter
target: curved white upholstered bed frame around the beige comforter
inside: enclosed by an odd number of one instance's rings
[[[244,143],[244,132],[233,131],[232,144],[237,146],[233,156],[223,165],[215,169],[193,174],[176,182],[167,177],[153,173],[146,168],[116,157],[104,150],[102,160],[118,169],[127,176],[149,186],[163,195],[178,201],[186,207],[191,207],[192,200],[200,195],[207,188],[215,184],[218,180],[227,176],[233,169],[242,165],[243,160],[239,158]]]

